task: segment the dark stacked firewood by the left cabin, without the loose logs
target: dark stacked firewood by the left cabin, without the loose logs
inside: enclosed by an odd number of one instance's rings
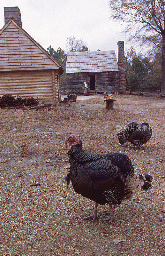
[[[38,100],[33,97],[22,99],[19,95],[12,96],[10,94],[4,94],[0,97],[0,108],[35,106],[37,104]]]

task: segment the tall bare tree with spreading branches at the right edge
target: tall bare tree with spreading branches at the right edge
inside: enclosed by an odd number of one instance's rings
[[[161,93],[165,94],[165,1],[109,0],[112,17],[127,23],[126,33],[137,41],[162,48]]]

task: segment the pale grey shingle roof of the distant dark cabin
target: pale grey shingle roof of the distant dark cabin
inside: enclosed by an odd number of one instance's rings
[[[67,52],[66,73],[118,71],[115,50]]]

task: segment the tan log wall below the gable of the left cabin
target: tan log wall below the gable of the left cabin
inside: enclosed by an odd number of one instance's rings
[[[3,94],[38,97],[45,103],[56,105],[60,87],[57,79],[60,77],[56,70],[0,72],[0,97]]]

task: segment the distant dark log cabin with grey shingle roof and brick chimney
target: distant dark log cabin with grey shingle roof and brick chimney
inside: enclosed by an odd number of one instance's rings
[[[67,88],[89,93],[125,93],[124,41],[118,43],[118,62],[115,50],[96,52],[67,52]]]

